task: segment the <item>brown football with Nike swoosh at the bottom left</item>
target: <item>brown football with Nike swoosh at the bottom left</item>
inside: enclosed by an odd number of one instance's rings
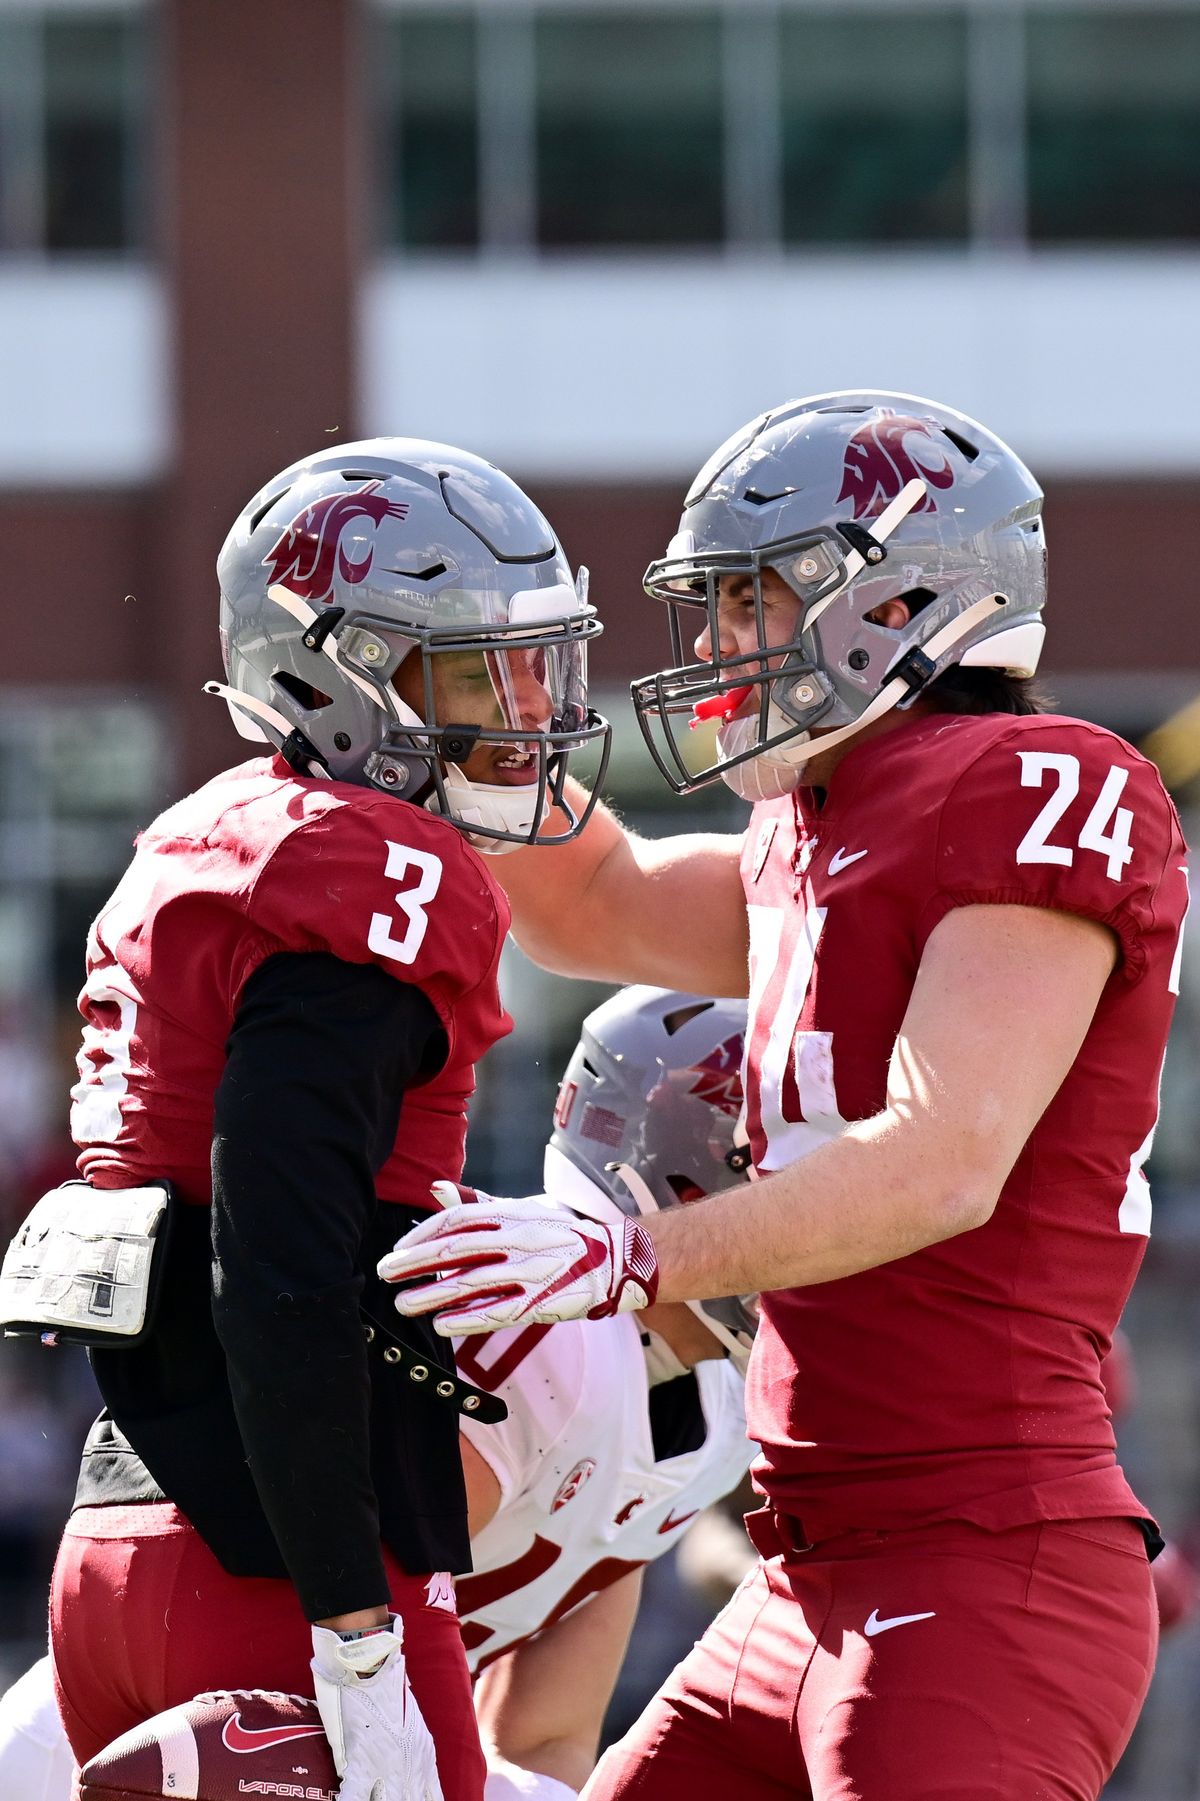
[[[335,1801],[333,1754],[315,1700],[267,1689],[196,1695],[105,1745],[81,1801]]]

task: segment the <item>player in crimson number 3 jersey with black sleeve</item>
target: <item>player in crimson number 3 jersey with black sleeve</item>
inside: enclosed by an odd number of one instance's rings
[[[510,1030],[486,854],[564,818],[571,751],[607,740],[598,623],[521,488],[420,439],[283,470],[218,576],[211,688],[267,755],[142,834],[88,940],[79,1169],[97,1210],[168,1180],[177,1217],[150,1336],[94,1353],[59,1707],[83,1761],[204,1689],[315,1680],[346,1796],[477,1801],[445,1572],[481,1401],[429,1380],[427,1331],[387,1344],[375,1263],[461,1169]]]

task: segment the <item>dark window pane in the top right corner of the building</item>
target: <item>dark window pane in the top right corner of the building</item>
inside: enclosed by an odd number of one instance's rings
[[[1200,13],[1034,9],[1029,236],[1200,238]]]

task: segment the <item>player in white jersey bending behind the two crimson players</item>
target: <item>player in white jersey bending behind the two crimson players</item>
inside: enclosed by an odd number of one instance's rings
[[[604,1217],[744,1183],[744,1001],[663,989],[623,989],[589,1014],[546,1147],[548,1194]],[[667,1302],[636,1322],[458,1347],[459,1372],[508,1407],[503,1423],[461,1421],[474,1570],[458,1614],[485,1801],[564,1801],[591,1772],[641,1567],[746,1473],[751,1336],[741,1300]],[[70,1801],[72,1770],[43,1659],[0,1697],[0,1796]]]

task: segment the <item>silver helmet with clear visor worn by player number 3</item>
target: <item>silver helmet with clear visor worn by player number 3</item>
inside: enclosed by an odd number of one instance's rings
[[[571,575],[501,470],[420,438],[321,450],[254,495],[216,567],[229,684],[209,692],[243,737],[305,773],[441,812],[481,850],[532,843],[551,801],[573,819],[571,753],[595,746],[607,760],[586,668],[602,627],[587,571]],[[476,684],[479,704],[463,713],[486,724],[438,717],[454,668],[459,690],[463,668]],[[465,773],[488,746],[510,760],[501,782]]]

